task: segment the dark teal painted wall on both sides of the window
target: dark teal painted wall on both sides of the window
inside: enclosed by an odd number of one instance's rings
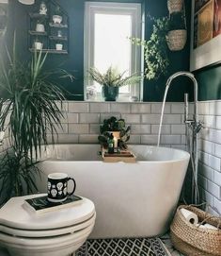
[[[99,0],[97,0],[99,1]],[[101,1],[101,0],[100,0]],[[57,66],[73,73],[75,80],[73,82],[66,80],[61,83],[71,94],[70,99],[81,100],[84,98],[84,5],[85,0],[57,0],[57,2],[68,12],[70,17],[70,53],[69,55],[49,55],[47,60],[47,67],[53,69]],[[116,2],[116,0],[106,2]],[[119,1],[118,1],[119,2]],[[120,2],[135,2],[145,4],[146,13],[150,13],[151,16],[160,17],[168,14],[166,0],[120,0]],[[186,1],[190,2],[190,1]],[[17,33],[17,48],[22,60],[28,60],[30,53],[27,50],[27,12],[32,10],[32,6],[24,6],[17,0],[9,1],[9,30],[10,36],[11,31],[16,30]],[[187,3],[187,4],[188,4]],[[190,6],[186,4],[187,21],[189,18]],[[187,23],[189,27],[189,23]],[[188,29],[189,32],[189,29]],[[146,38],[150,38],[151,24],[150,21],[146,21]],[[10,37],[9,36],[9,37]],[[169,58],[171,65],[169,73],[173,74],[176,71],[188,70],[189,69],[189,33],[188,42],[185,48],[180,52],[170,52]],[[162,77],[157,82],[148,81],[144,82],[144,101],[162,101],[163,94],[165,91],[166,78]],[[189,80],[184,77],[174,81],[169,90],[167,101],[183,101],[183,94],[192,94],[192,85]],[[74,94],[81,94],[81,96],[74,96]]]

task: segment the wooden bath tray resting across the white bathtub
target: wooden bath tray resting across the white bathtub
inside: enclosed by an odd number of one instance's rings
[[[118,153],[109,154],[105,149],[103,149],[102,155],[103,162],[135,162],[135,156],[129,150],[121,150]]]

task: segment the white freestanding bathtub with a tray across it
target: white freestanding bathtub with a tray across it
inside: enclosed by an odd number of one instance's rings
[[[150,237],[168,229],[177,206],[189,154],[149,145],[130,145],[137,162],[103,162],[100,145],[49,145],[39,163],[40,192],[47,175],[64,172],[77,183],[76,195],[91,199],[96,224],[91,237]]]

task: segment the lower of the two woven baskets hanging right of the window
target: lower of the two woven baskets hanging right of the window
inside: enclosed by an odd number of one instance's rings
[[[170,51],[180,51],[186,43],[186,29],[171,30],[166,35],[166,42]]]

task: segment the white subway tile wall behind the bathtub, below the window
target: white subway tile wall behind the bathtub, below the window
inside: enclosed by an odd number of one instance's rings
[[[64,129],[58,130],[58,142],[98,143],[103,120],[116,116],[125,119],[126,125],[131,126],[131,144],[156,145],[161,107],[162,103],[67,101],[63,108],[67,110],[62,119]],[[182,109],[183,103],[166,103],[162,145],[185,148]]]

